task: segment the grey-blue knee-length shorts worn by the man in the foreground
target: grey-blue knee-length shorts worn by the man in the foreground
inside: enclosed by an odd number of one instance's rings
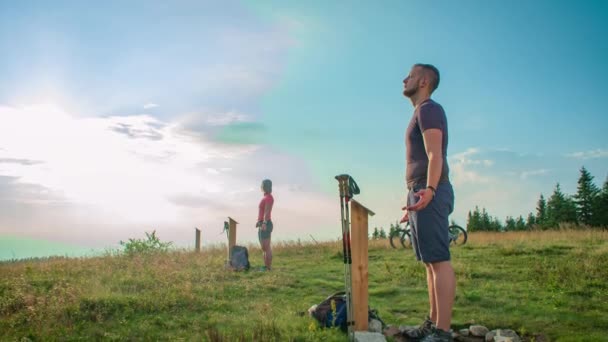
[[[414,193],[424,189],[426,184],[415,185],[407,195],[407,205],[413,205],[419,198]],[[454,210],[454,190],[450,182],[440,182],[435,197],[420,211],[410,211],[412,247],[416,259],[424,263],[450,260],[448,216]]]

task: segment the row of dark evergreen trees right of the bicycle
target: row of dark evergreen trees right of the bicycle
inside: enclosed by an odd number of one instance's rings
[[[531,229],[554,229],[560,223],[608,227],[608,178],[600,189],[593,182],[593,176],[583,166],[580,170],[576,194],[564,194],[559,183],[548,199],[541,194],[536,205],[536,213],[526,218],[508,216],[504,225],[496,217],[490,216],[485,208],[475,207],[469,211],[467,230],[473,231],[517,231]]]

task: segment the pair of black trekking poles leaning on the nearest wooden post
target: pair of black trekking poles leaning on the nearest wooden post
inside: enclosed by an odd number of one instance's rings
[[[346,326],[348,328],[348,339],[354,341],[354,315],[352,305],[352,276],[351,265],[352,256],[350,249],[350,210],[349,202],[354,195],[360,193],[359,186],[355,180],[347,175],[342,174],[336,176],[338,187],[340,189],[340,214],[342,222],[342,254],[344,255],[344,288],[346,292]]]

